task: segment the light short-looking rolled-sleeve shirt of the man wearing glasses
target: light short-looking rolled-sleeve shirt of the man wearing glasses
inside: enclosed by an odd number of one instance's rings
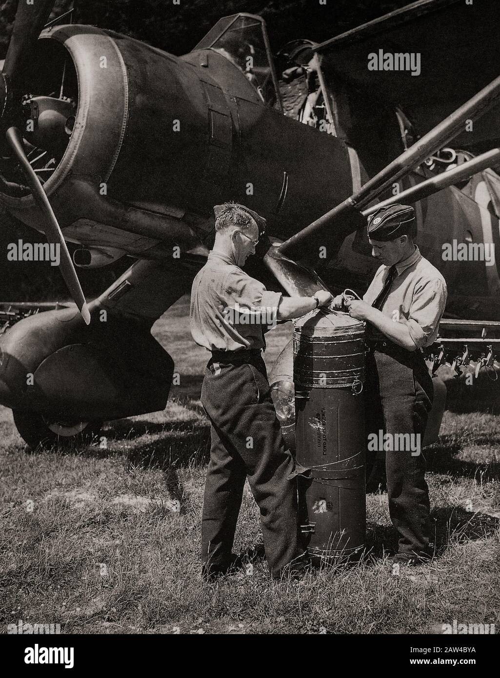
[[[191,335],[208,351],[265,348],[263,332],[275,324],[281,296],[212,250],[191,288]]]

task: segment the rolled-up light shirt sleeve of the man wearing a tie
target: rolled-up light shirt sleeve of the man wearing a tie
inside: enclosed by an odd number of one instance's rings
[[[439,279],[429,280],[415,290],[406,324],[417,348],[429,346],[436,338],[446,297],[446,284]]]

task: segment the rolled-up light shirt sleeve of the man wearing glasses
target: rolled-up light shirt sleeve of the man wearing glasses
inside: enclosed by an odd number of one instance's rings
[[[266,317],[277,315],[277,307],[280,304],[282,294],[270,292],[265,285],[258,280],[246,275],[243,271],[229,273],[225,293],[227,294],[228,306],[234,310],[248,309],[254,312],[256,317],[262,317],[262,324],[266,325]],[[265,312],[265,313],[264,313]]]

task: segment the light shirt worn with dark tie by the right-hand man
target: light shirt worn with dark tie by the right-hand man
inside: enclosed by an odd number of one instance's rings
[[[363,297],[368,304],[379,296],[389,268],[381,266],[375,273]],[[444,277],[415,246],[413,254],[396,264],[396,277],[380,311],[394,322],[404,323],[415,346],[425,348],[438,336],[447,294]],[[381,333],[374,328],[374,334],[377,338]]]

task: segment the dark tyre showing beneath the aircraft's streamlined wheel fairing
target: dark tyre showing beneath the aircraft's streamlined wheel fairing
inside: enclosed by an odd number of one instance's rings
[[[102,421],[77,422],[58,421],[39,412],[12,410],[14,423],[19,435],[35,450],[43,447],[67,449],[69,447],[90,445],[98,441]]]

